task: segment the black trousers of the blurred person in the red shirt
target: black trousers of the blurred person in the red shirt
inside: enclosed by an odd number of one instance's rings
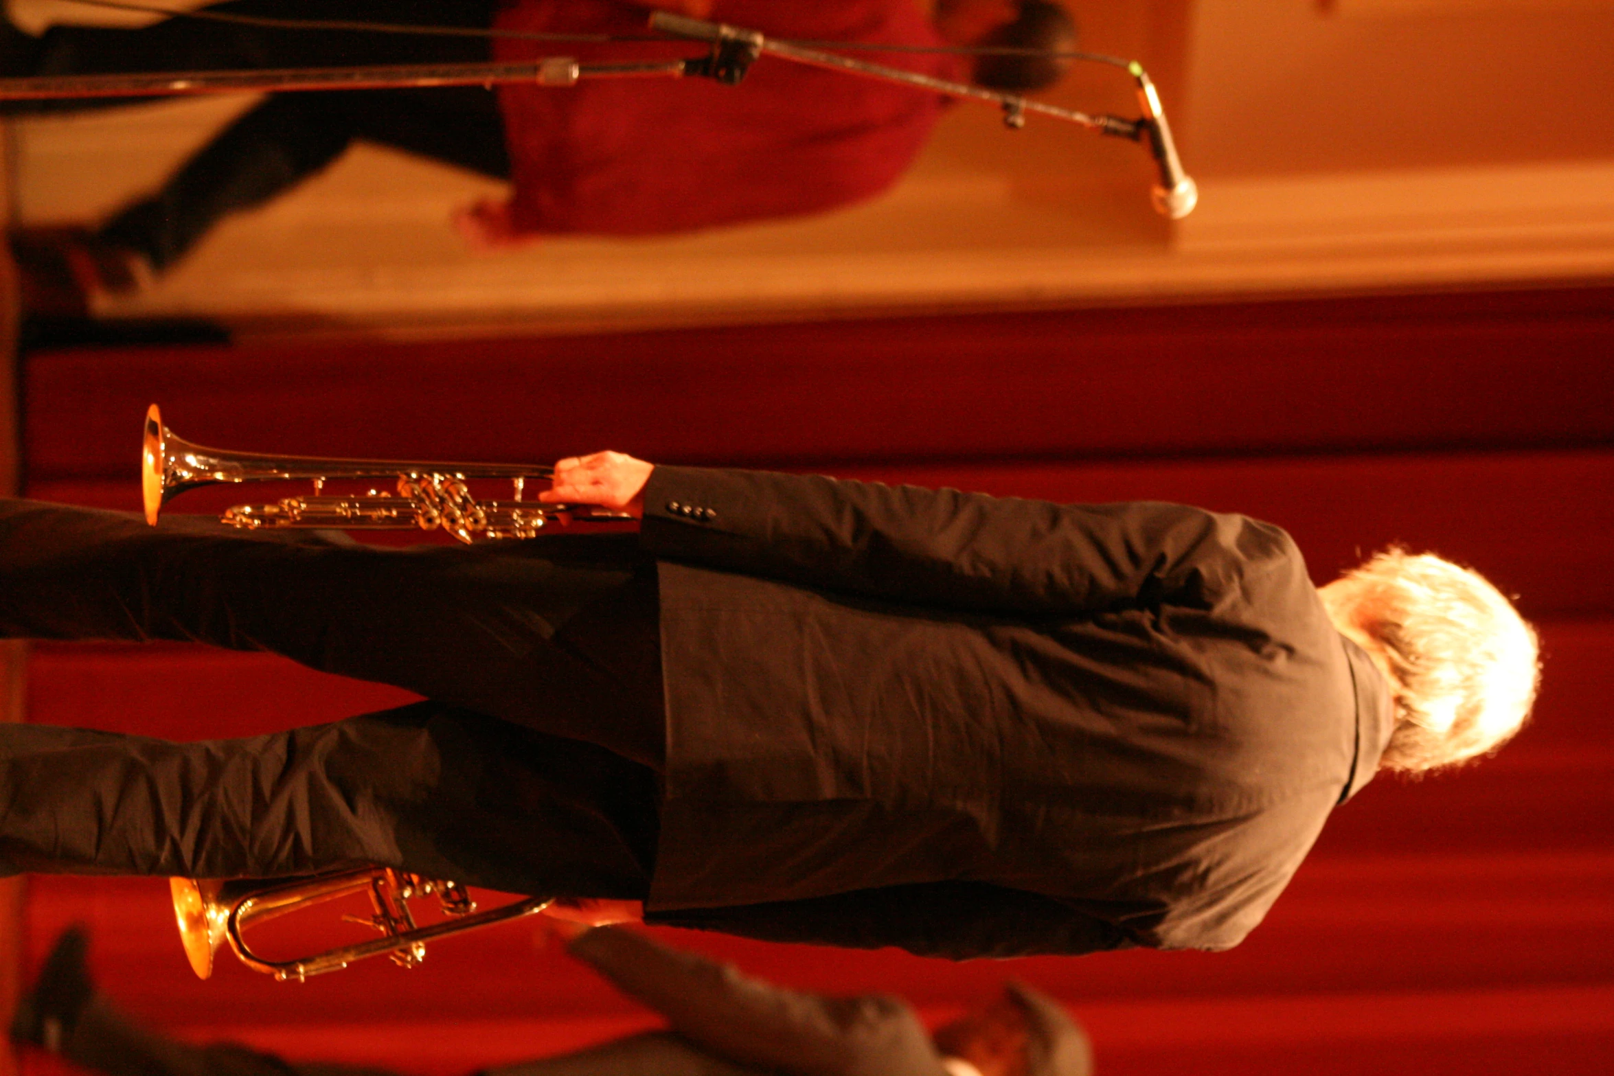
[[[491,0],[236,0],[213,11],[418,26],[487,27]],[[58,26],[34,58],[37,74],[473,63],[486,37],[292,31],[173,18],[144,29]],[[123,102],[131,103],[131,102]],[[102,108],[105,100],[18,102],[8,111]],[[492,90],[336,90],[271,97],[237,118],[150,198],[118,213],[98,237],[140,252],[155,269],[178,261],[221,218],[261,205],[365,139],[504,177],[510,171]]]

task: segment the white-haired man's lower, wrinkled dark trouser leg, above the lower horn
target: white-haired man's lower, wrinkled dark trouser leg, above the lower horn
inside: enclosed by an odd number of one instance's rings
[[[279,878],[379,863],[505,892],[642,899],[655,774],[434,702],[174,744],[0,726],[0,873]]]

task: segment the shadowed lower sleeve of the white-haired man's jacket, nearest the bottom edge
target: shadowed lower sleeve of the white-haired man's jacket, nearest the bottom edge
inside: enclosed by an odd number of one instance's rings
[[[770,942],[896,945],[949,960],[1073,955],[1135,944],[1110,923],[1060,900],[985,882],[886,886],[809,900],[679,908],[649,918]]]

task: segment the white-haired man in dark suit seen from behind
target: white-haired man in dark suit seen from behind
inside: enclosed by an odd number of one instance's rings
[[[618,453],[542,497],[642,528],[397,552],[0,510],[5,634],[431,700],[213,744],[0,729],[3,866],[374,861],[776,940],[1227,949],[1382,765],[1485,753],[1535,690],[1474,573],[1391,552],[1319,592],[1244,516]]]

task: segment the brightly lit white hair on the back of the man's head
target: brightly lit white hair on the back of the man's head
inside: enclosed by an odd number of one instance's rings
[[[1477,758],[1530,716],[1535,631],[1478,573],[1390,548],[1320,594],[1390,665],[1398,721],[1380,765],[1417,773]]]

